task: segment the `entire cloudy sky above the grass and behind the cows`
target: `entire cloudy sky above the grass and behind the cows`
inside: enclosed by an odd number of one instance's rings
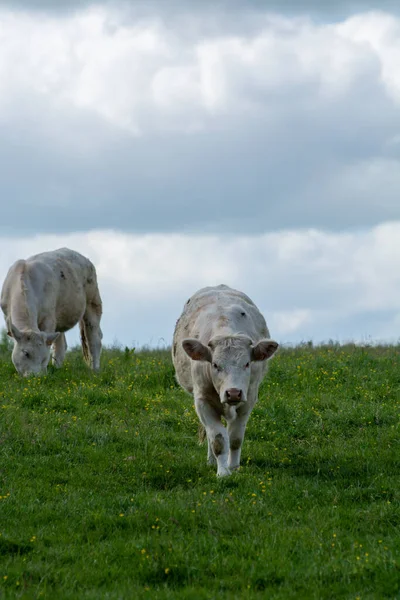
[[[218,283],[281,343],[397,341],[400,8],[331,4],[0,0],[0,278],[86,254],[106,344]]]

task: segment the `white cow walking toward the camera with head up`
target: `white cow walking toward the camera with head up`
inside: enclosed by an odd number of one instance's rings
[[[208,462],[217,463],[220,477],[240,466],[246,424],[267,359],[277,348],[255,304],[226,285],[196,292],[176,323],[172,346],[176,377],[194,396],[207,435]]]

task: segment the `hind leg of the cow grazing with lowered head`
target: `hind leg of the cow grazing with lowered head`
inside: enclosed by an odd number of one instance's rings
[[[103,337],[100,329],[101,314],[101,300],[98,297],[97,300],[88,303],[85,314],[79,322],[83,357],[94,371],[100,369],[101,340]]]

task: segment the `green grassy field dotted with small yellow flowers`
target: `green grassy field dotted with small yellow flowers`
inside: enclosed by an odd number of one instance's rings
[[[399,347],[271,361],[218,480],[168,352],[0,356],[0,598],[400,598]]]

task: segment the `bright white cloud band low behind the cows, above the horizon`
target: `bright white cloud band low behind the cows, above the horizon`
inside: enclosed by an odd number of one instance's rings
[[[89,256],[98,271],[107,344],[170,343],[187,298],[219,283],[249,294],[280,342],[393,341],[400,337],[399,240],[400,222],[353,233],[228,239],[112,231],[0,238],[0,278],[14,260],[60,245]]]

